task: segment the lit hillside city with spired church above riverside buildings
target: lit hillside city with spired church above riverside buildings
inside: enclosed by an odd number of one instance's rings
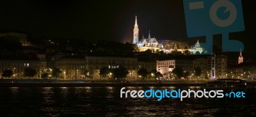
[[[133,39],[126,43],[0,31],[1,86],[202,86],[215,79],[256,80],[255,57],[241,48],[220,52],[215,46],[209,53],[199,39],[157,39],[150,29],[140,36],[139,25],[135,16]]]

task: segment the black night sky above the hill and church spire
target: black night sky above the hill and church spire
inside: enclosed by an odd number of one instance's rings
[[[250,52],[256,42],[256,2],[242,3],[245,31],[232,33],[230,38],[241,40],[244,51]],[[0,4],[0,29],[24,31],[33,37],[132,42],[137,15],[140,38],[142,34],[147,37],[150,30],[157,39],[204,41],[204,37],[188,38],[181,0],[1,0]]]

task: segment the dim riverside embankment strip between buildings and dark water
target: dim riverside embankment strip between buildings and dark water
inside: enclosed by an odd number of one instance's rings
[[[208,80],[1,79],[0,87],[205,86]],[[256,82],[252,82],[256,86]]]

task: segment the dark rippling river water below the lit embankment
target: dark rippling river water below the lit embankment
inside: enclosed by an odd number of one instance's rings
[[[256,91],[245,99],[120,99],[121,87],[0,88],[0,116],[256,116]],[[129,90],[175,87],[127,87]],[[184,89],[199,90],[198,87]]]

